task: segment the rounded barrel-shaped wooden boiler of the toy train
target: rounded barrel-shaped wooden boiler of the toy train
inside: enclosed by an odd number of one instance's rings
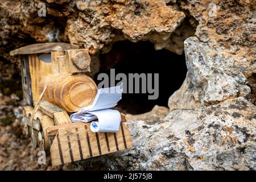
[[[44,99],[67,112],[75,112],[92,104],[97,93],[95,82],[84,74],[65,73],[47,76],[40,82],[40,90],[46,82],[48,87]]]

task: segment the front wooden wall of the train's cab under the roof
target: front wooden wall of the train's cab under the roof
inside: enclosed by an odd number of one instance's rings
[[[52,73],[52,66],[51,63],[41,61],[38,55],[29,55],[28,63],[30,67],[32,100],[36,102],[40,96],[39,82],[43,77]]]

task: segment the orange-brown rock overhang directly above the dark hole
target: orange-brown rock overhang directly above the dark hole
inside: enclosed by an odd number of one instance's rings
[[[164,42],[185,18],[176,7],[156,0],[77,1],[76,7],[80,12],[68,20],[68,38],[92,53],[117,41],[119,32],[132,42]]]

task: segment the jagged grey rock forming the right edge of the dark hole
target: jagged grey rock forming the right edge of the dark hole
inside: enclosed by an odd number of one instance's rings
[[[188,73],[181,89],[169,100],[171,110],[197,109],[200,105],[246,97],[250,93],[246,76],[254,72],[253,61],[245,62],[243,57],[234,60],[221,48],[210,47],[195,37],[185,40],[184,46]],[[243,67],[240,67],[242,63]],[[181,98],[183,96],[185,99]],[[175,108],[177,106],[179,108]]]

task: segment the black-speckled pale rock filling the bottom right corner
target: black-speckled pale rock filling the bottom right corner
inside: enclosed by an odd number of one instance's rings
[[[185,151],[195,170],[255,170],[256,107],[242,97],[203,108]]]

